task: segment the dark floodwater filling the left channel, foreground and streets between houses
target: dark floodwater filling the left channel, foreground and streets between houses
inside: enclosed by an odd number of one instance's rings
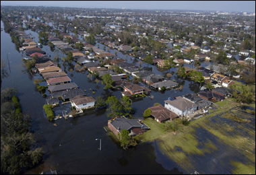
[[[1,21],[1,28],[3,22]],[[35,42],[38,42],[38,34],[31,30],[26,30],[26,34],[31,34]],[[96,46],[103,49],[102,44],[96,43]],[[108,48],[105,46],[106,49]],[[58,48],[56,48],[58,49]],[[52,52],[49,46],[42,46],[42,50],[46,52],[52,59],[56,53]],[[110,52],[115,54],[115,49]],[[9,59],[9,65],[7,61]],[[139,65],[138,59],[133,59],[129,55],[121,52],[117,54],[123,59],[127,59],[128,63]],[[60,51],[59,56],[63,57]],[[103,127],[107,126],[108,119],[106,109],[87,112],[84,116],[77,118],[69,118],[65,120],[61,118],[54,122],[49,122],[42,109],[46,103],[45,98],[38,92],[33,79],[40,75],[31,75],[26,71],[26,67],[22,67],[22,59],[26,57],[25,53],[18,52],[15,44],[11,42],[11,36],[1,31],[1,59],[6,61],[5,77],[2,77],[1,89],[6,87],[18,88],[18,97],[22,111],[30,114],[32,117],[32,131],[36,137],[36,142],[44,151],[44,162],[40,166],[29,170],[26,174],[40,174],[49,172],[49,170],[57,170],[59,174],[191,174],[194,172],[185,172],[179,165],[170,158],[166,157],[158,144],[140,143],[136,147],[123,150],[115,139],[108,136]],[[202,63],[209,65],[209,62]],[[87,77],[88,71],[85,73],[75,71],[75,63],[63,66],[60,62],[61,69],[67,72],[67,75],[75,82],[79,88],[86,90],[87,96],[92,96],[96,99],[101,96],[106,100],[109,96],[116,96],[118,99],[122,97],[121,91],[103,90],[104,85],[95,83],[93,79]],[[193,65],[185,66],[193,67]],[[141,64],[141,67],[146,70],[151,70],[159,75],[172,73],[170,79],[175,79],[179,85],[183,85],[182,90],[167,90],[166,92],[153,91],[151,95],[153,99],[143,98],[143,100],[134,101],[132,108],[135,108],[135,118],[143,119],[143,111],[158,102],[164,104],[164,100],[168,97],[172,99],[174,96],[182,96],[188,93],[200,92],[199,84],[189,79],[181,79],[177,77],[175,71],[177,68],[172,68],[168,71],[162,71],[156,66]],[[146,84],[143,84],[146,85]],[[148,85],[146,85],[148,87]],[[96,90],[92,94],[92,90]],[[48,98],[48,97],[47,97]],[[67,105],[63,108],[69,108]],[[71,109],[71,105],[70,105]],[[59,112],[61,109],[59,110]],[[57,111],[56,111],[57,112]],[[56,124],[56,126],[53,125]],[[102,150],[99,150],[101,139]],[[207,157],[205,157],[207,159]],[[200,163],[199,163],[200,164]],[[203,164],[201,164],[203,166]],[[212,171],[206,173],[214,173]]]

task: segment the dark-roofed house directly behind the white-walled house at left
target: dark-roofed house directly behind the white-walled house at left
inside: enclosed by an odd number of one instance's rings
[[[67,91],[59,91],[59,92],[53,92],[50,94],[52,98],[59,98],[63,101],[68,101],[71,98],[74,98],[75,96],[86,96],[83,90],[77,88],[77,89],[71,89]]]

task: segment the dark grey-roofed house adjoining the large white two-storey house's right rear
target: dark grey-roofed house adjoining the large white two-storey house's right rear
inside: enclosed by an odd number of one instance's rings
[[[213,102],[210,102],[209,100],[205,100],[204,98],[201,98],[199,96],[197,96],[196,94],[186,94],[183,96],[183,98],[190,100],[191,102],[194,102],[195,104],[197,104],[197,110],[203,109],[203,108],[207,108],[210,105],[213,104]]]

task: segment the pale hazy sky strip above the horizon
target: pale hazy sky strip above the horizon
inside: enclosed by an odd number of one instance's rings
[[[243,11],[255,13],[255,1],[1,1],[1,5]]]

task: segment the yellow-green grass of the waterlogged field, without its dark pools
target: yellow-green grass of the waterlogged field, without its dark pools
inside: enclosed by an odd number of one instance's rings
[[[235,103],[231,99],[218,102],[218,105],[221,107],[216,110],[210,110],[210,114],[202,118],[193,120],[189,126],[181,127],[176,135],[165,131],[164,123],[160,124],[153,118],[146,118],[143,122],[150,127],[150,131],[136,137],[143,142],[157,140],[160,150],[179,164],[187,173],[195,171],[195,164],[197,163],[195,163],[196,161],[193,160],[193,157],[198,156],[197,158],[200,160],[199,157],[205,155],[205,153],[213,153],[211,155],[214,155],[215,151],[218,151],[222,146],[225,147],[225,149],[221,148],[223,151],[226,151],[226,149],[234,150],[240,153],[241,157],[245,156],[244,162],[234,163],[232,162],[234,160],[228,160],[228,162],[224,163],[224,166],[228,166],[230,173],[255,173],[255,166],[252,166],[253,163],[255,165],[255,139],[252,139],[255,138],[255,125],[254,129],[247,128],[246,126],[250,122],[245,122],[241,125],[240,122],[232,121],[230,118],[223,118],[223,120],[228,120],[228,122],[223,122],[216,116],[221,116],[231,111],[241,117],[245,116],[245,113],[236,110],[241,104]],[[255,116],[249,114],[246,119],[252,120],[253,117],[255,118]],[[253,125],[252,122],[251,125]],[[218,143],[208,138],[205,138],[204,143],[199,143],[199,135],[196,129],[210,132],[210,135],[218,139]],[[240,133],[241,130],[245,131],[247,135]],[[230,135],[230,133],[232,134]]]

